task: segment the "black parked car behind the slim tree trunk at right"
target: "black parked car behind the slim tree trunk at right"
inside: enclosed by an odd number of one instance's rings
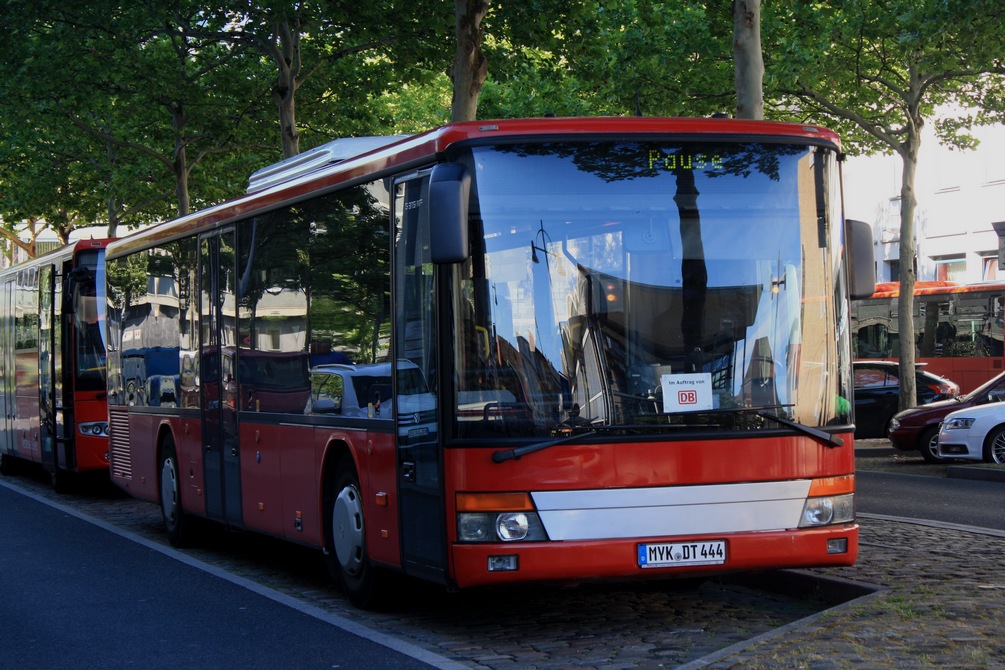
[[[900,376],[895,361],[855,361],[855,437],[886,437],[890,420],[899,410]],[[915,370],[918,404],[952,400],[960,386],[945,377]]]

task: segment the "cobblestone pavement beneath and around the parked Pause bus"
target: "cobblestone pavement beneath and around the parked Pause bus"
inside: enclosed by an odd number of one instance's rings
[[[154,505],[107,489],[67,503],[19,479],[35,495],[166,544]],[[775,597],[717,582],[528,586],[505,594],[410,584],[393,613],[364,613],[331,586],[317,551],[213,532],[186,553],[478,670],[1005,669],[1005,536],[872,517],[860,523],[855,566],[808,573],[879,591],[822,614],[826,604],[812,594]]]

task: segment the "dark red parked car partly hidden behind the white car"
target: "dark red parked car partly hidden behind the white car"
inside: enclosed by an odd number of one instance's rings
[[[975,405],[998,403],[1005,400],[1005,373],[993,377],[970,393],[941,400],[930,405],[913,407],[893,416],[889,425],[889,441],[901,451],[918,449],[925,460],[939,463],[944,460],[936,451],[939,424],[950,412]]]

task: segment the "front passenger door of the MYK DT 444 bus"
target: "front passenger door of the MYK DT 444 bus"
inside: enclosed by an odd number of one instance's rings
[[[428,186],[428,176],[421,176],[395,188],[394,407],[402,562],[410,575],[442,583],[446,531]]]

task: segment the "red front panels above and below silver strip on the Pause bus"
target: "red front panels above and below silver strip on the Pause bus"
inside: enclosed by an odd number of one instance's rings
[[[840,436],[845,445],[822,447],[804,437],[749,440],[697,440],[641,442],[609,445],[555,446],[520,460],[494,463],[494,449],[448,449],[447,490],[456,492],[609,489],[622,487],[686,487],[740,481],[813,479],[854,471],[850,434]],[[701,458],[694,453],[700,452]],[[658,454],[658,458],[655,457]],[[738,479],[737,460],[744,462]],[[588,482],[588,483],[586,483]],[[673,482],[673,483],[669,483]],[[453,500],[447,500],[447,519],[454,518]],[[456,530],[447,525],[450,574],[458,587],[513,581],[563,580],[569,575],[598,579],[627,577],[666,578],[708,574],[710,567],[642,570],[636,562],[641,538],[580,540],[541,543],[467,544],[456,541]],[[847,551],[828,553],[827,540],[844,538]],[[664,541],[665,538],[649,538]],[[858,525],[848,523],[824,528],[780,529],[775,532],[712,533],[674,536],[674,542],[726,539],[728,561],[714,571],[849,566],[855,562]],[[488,572],[488,556],[519,555],[517,572]]]

